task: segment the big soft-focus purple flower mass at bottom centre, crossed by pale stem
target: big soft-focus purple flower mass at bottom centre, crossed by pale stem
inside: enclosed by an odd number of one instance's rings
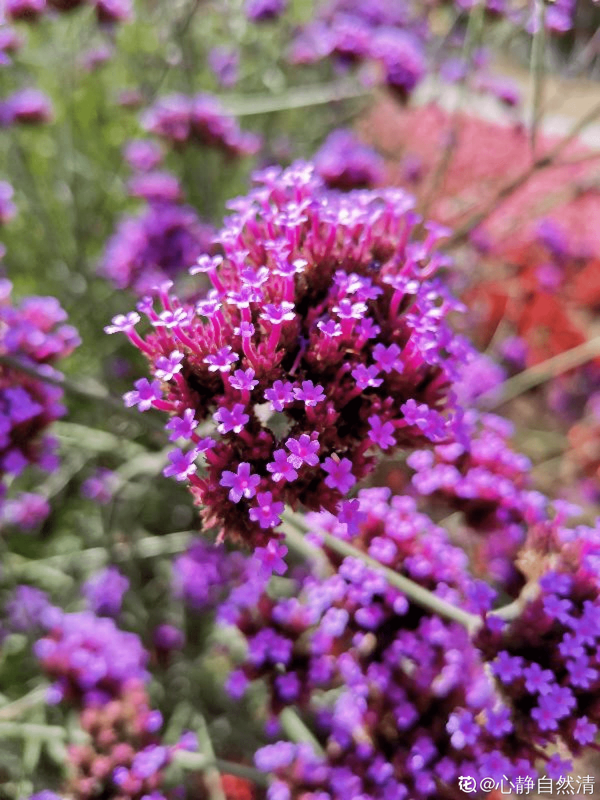
[[[342,514],[311,521],[440,598],[489,609],[493,593],[471,581],[465,554],[414,500],[363,490],[355,502],[351,524]],[[297,706],[326,753],[290,742],[259,750],[258,768],[278,776],[270,800],[451,798],[459,774],[513,774],[502,754],[510,712],[466,630],[420,610],[358,558],[324,549],[329,577],[308,575],[292,597],[264,597],[237,619],[248,652],[230,694],[262,678],[272,712]]]

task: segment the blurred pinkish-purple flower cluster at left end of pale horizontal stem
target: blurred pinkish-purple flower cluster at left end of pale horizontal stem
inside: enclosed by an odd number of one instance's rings
[[[212,94],[167,94],[142,114],[142,126],[173,146],[195,142],[230,157],[252,155],[260,146],[258,136],[240,130]]]

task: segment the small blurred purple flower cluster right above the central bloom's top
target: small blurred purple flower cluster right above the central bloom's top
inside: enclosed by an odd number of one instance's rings
[[[382,182],[383,159],[351,130],[334,130],[314,156],[317,174],[331,189],[372,189]]]

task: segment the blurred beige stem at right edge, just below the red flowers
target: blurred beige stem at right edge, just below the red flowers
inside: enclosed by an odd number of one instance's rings
[[[557,375],[573,370],[576,366],[582,366],[599,355],[600,336],[596,336],[588,342],[583,342],[570,350],[564,350],[552,358],[547,358],[546,361],[530,367],[529,370],[514,375],[500,386],[484,392],[479,396],[477,405],[486,411],[497,409],[520,394],[534,389],[535,386],[541,386],[550,378],[556,378]]]

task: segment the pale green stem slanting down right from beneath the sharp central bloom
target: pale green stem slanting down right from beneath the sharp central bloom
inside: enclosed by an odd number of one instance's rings
[[[306,532],[312,531],[314,534],[318,535],[325,546],[329,547],[330,550],[334,550],[336,553],[343,556],[358,558],[373,570],[381,573],[390,586],[399,589],[406,594],[406,597],[416,602],[419,606],[433,611],[434,614],[439,614],[441,617],[458,622],[460,625],[464,626],[470,634],[473,634],[481,627],[482,619],[478,614],[470,614],[469,611],[458,608],[458,606],[453,606],[451,603],[446,602],[446,600],[438,598],[435,594],[420,586],[420,584],[411,581],[410,578],[406,578],[404,575],[394,572],[394,570],[390,570],[387,566],[383,566],[374,558],[363,553],[362,550],[358,550],[358,547],[349,544],[349,542],[344,542],[342,539],[338,539],[326,533],[324,530],[316,530],[308,526],[306,522],[304,522],[301,514],[297,514],[294,511],[287,511],[284,512],[283,518],[286,519],[286,522],[290,522],[291,525],[295,525],[300,530],[305,530]]]

